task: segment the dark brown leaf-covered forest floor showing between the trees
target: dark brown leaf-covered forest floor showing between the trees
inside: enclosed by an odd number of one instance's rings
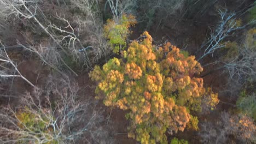
[[[253,1],[248,0],[248,3]],[[220,5],[226,4],[229,5],[228,9],[232,11],[237,5],[236,2],[233,1],[222,1],[219,2]],[[171,41],[173,45],[177,45],[183,50],[189,51],[191,55],[195,55],[197,58],[199,57],[200,53],[196,51],[199,49],[200,45],[205,40],[206,35],[209,31],[209,27],[213,27],[218,22],[218,17],[216,16],[216,11],[214,12],[214,7],[211,10],[208,10],[207,14],[201,17],[200,21],[195,20],[177,20],[175,17],[170,17],[168,21],[161,23],[155,23],[154,26],[149,30],[149,33],[152,35],[153,39],[156,43],[158,41]],[[131,39],[136,39],[139,37],[142,31],[138,28],[133,28],[133,34],[131,35]],[[46,79],[48,79],[48,75],[50,74],[50,69],[47,66],[42,65],[39,62],[39,59],[34,57],[28,57],[26,54],[22,53],[22,51],[17,51],[10,53],[11,59],[18,59],[18,61],[22,61],[20,65],[18,65],[18,69],[20,70],[21,74],[24,75],[29,81],[32,83],[43,86]],[[214,57],[207,57],[204,59],[202,63],[211,62]],[[212,69],[218,68],[218,65],[212,65],[204,68],[203,74],[208,73]],[[214,73],[208,74],[203,77],[203,81],[205,87],[212,87],[214,92],[219,93],[220,103],[217,106],[217,110],[211,112],[208,115],[199,116],[199,121],[215,121],[218,117],[216,113],[219,111],[228,111],[229,107],[235,104],[235,100],[230,99],[226,92],[224,91],[224,87],[226,84],[226,79],[223,77],[222,70],[215,71]],[[73,77],[71,75],[71,77]],[[94,99],[95,94],[95,83],[92,82],[89,78],[88,71],[84,71],[78,77],[73,77],[77,82],[79,87],[83,88],[80,97],[82,99]],[[25,91],[32,91],[32,87],[28,85],[25,81],[21,79],[13,79],[10,81],[13,85],[0,87],[0,93],[3,95],[16,95],[16,93],[24,93]],[[9,84],[9,82],[7,82]],[[15,92],[15,94],[13,93]],[[9,104],[12,103],[15,105],[15,97],[11,98],[4,98],[0,99],[0,105],[2,104]],[[99,101],[97,105],[97,109],[103,110],[103,116],[106,121],[102,123],[102,127],[104,129],[108,129],[110,131],[109,136],[114,139],[115,143],[136,143],[136,140],[129,139],[127,137],[127,125],[129,122],[125,118],[125,112],[119,109],[112,109],[112,107],[106,107],[103,105],[102,101]],[[178,132],[177,134],[173,135],[178,138],[188,140],[189,143],[200,143],[200,137],[197,135],[195,131],[185,129],[184,132]],[[170,136],[172,137],[172,136]]]

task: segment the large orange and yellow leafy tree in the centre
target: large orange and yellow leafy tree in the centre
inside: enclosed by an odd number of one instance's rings
[[[203,69],[194,56],[185,57],[176,46],[156,47],[148,32],[141,38],[130,44],[123,58],[110,59],[102,69],[96,66],[90,77],[98,82],[96,98],[106,106],[129,110],[129,137],[141,143],[167,143],[166,131],[183,131],[193,117],[190,111],[201,111],[206,90],[196,75]]]

